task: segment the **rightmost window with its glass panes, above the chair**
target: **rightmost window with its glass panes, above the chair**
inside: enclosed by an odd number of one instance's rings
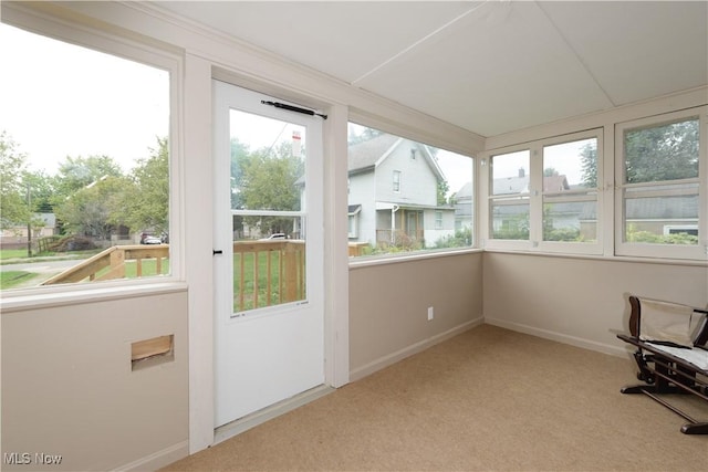
[[[705,258],[705,116],[693,109],[617,126],[618,254]]]

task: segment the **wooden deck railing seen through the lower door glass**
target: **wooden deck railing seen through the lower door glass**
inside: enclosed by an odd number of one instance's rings
[[[305,297],[305,242],[233,242],[233,311],[295,302]]]

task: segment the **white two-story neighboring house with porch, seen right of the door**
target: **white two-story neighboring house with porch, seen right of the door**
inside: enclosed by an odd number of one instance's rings
[[[434,247],[455,234],[455,208],[437,204],[445,176],[426,146],[392,135],[350,146],[350,242]]]

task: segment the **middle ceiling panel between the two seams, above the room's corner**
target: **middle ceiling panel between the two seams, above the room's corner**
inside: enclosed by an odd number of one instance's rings
[[[494,2],[357,83],[483,136],[612,106],[534,2]]]

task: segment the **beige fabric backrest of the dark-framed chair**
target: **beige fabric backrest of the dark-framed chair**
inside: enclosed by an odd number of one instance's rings
[[[708,342],[706,311],[634,295],[629,297],[629,332],[635,337],[687,347]]]

